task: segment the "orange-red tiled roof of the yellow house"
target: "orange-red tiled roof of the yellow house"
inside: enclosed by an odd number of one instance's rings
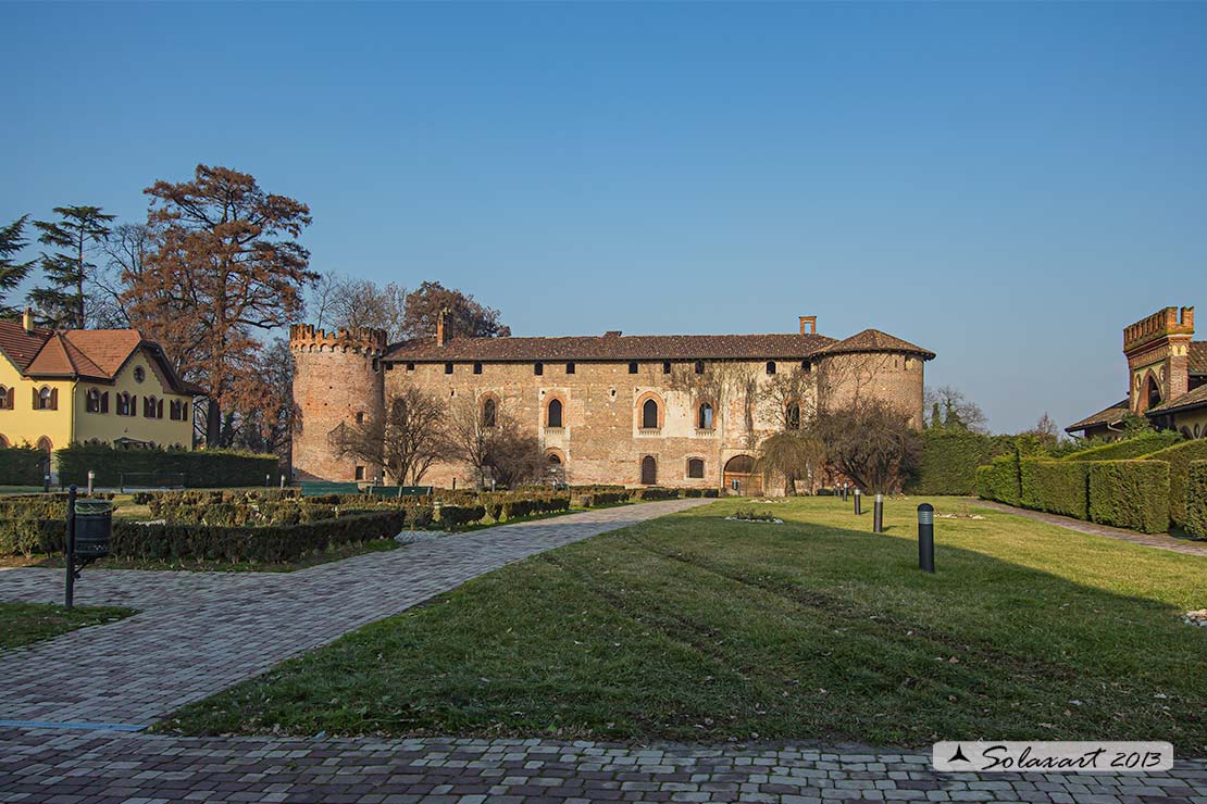
[[[173,391],[205,393],[181,380],[163,348],[136,329],[27,330],[21,321],[0,319],[0,353],[30,378],[112,382],[140,348],[159,364]]]

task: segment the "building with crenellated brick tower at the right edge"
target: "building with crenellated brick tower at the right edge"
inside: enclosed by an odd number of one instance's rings
[[[1164,307],[1124,328],[1127,398],[1066,432],[1118,439],[1124,418],[1143,416],[1159,429],[1207,438],[1207,341],[1194,340],[1195,309]]]

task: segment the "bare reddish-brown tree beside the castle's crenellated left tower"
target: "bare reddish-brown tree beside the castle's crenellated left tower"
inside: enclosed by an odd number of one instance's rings
[[[331,433],[339,457],[381,466],[398,485],[418,485],[433,463],[448,456],[444,403],[408,386],[386,400],[385,415],[361,424],[343,423]]]

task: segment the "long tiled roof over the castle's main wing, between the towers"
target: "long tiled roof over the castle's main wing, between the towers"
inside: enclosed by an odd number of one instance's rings
[[[444,360],[704,360],[807,358],[828,344],[824,335],[585,335],[570,338],[454,338],[397,344],[391,362]],[[904,342],[904,341],[903,341]],[[933,357],[933,356],[932,356]]]

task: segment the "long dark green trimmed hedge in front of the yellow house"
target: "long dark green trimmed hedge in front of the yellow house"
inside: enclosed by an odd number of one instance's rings
[[[54,454],[63,486],[86,485],[89,469],[97,473],[97,486],[118,486],[123,473],[181,474],[185,486],[193,488],[263,486],[266,475],[269,483],[280,476],[276,456],[232,450],[122,450],[72,444]]]

